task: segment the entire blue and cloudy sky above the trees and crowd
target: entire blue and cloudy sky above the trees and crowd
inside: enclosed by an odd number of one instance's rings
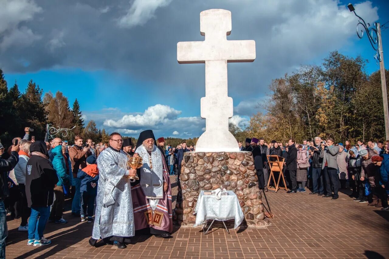
[[[7,5],[11,2],[18,8]],[[373,24],[389,21],[388,2],[353,4]],[[301,64],[321,64],[332,50],[361,54],[369,61],[368,73],[379,69],[366,35],[356,35],[357,17],[347,3],[7,1],[0,10],[0,67],[10,87],[17,80],[23,91],[32,79],[44,92],[60,90],[70,104],[77,98],[86,121],[93,119],[100,128],[135,137],[145,129],[157,136],[195,137],[205,127],[199,118],[204,64],[178,64],[176,43],[203,40],[202,10],[230,10],[228,39],[256,40],[256,61],[228,65],[231,121],[244,125],[256,113],[256,103],[266,99],[273,78]],[[384,51],[389,50],[389,30],[382,35]]]

